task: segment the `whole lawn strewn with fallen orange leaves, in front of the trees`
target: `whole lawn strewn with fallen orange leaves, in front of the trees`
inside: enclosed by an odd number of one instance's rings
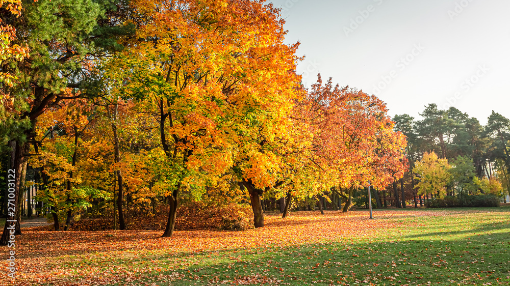
[[[409,208],[367,217],[366,211],[272,214],[258,230],[176,232],[173,238],[148,231],[25,232],[17,282],[510,284],[510,207]]]

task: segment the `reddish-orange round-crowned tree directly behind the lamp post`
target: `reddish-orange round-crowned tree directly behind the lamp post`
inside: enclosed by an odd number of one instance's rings
[[[318,81],[320,89],[320,78]],[[330,89],[330,82],[325,85]],[[335,89],[323,99],[324,119],[315,144],[317,161],[327,166],[330,186],[345,200],[347,212],[354,190],[387,186],[406,167],[405,137],[393,130],[384,102],[361,91]]]

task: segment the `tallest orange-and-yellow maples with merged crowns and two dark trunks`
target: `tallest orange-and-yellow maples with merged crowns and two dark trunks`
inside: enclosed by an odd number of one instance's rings
[[[275,181],[260,168],[274,157],[259,150],[285,132],[297,82],[289,72],[297,45],[284,44],[277,10],[253,1],[135,3],[150,20],[138,23],[141,40],[119,63],[130,96],[157,114],[169,171],[159,184],[170,202],[163,236],[173,233],[180,192],[203,187],[200,178],[220,176],[235,158],[260,209],[251,186]]]

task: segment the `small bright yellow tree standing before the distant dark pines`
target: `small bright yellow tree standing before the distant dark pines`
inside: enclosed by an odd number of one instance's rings
[[[437,194],[439,198],[446,195],[446,185],[450,181],[451,174],[447,159],[439,159],[434,152],[423,154],[423,159],[416,162],[414,172],[418,184],[415,188],[422,195]]]

